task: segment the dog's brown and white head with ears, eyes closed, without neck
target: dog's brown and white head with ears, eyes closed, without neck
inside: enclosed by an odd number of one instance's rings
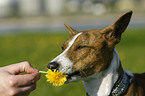
[[[48,64],[48,68],[68,74],[68,82],[106,70],[111,63],[114,47],[120,41],[131,15],[132,11],[123,14],[104,30],[77,32],[65,24],[70,38],[62,44],[62,53]]]

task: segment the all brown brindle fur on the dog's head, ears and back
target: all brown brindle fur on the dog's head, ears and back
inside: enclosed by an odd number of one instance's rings
[[[79,72],[82,78],[108,68],[113,58],[115,45],[120,42],[121,35],[129,24],[132,11],[123,14],[115,23],[104,30],[93,29],[81,31],[82,34],[75,40],[67,51],[67,57],[73,62],[73,72]],[[62,44],[62,51],[69,41],[78,33],[65,24],[70,38]],[[122,67],[118,68],[119,75]],[[145,96],[145,73],[135,74],[125,96]]]

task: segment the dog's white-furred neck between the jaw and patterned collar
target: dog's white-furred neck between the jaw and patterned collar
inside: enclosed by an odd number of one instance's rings
[[[84,80],[86,92],[89,96],[108,96],[119,77],[120,60],[114,49],[113,59],[109,68],[103,72],[94,74]]]

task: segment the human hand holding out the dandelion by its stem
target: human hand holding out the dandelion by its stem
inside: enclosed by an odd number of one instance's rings
[[[28,74],[18,75],[26,72]],[[0,94],[2,96],[28,96],[36,88],[40,73],[28,62],[0,67]]]

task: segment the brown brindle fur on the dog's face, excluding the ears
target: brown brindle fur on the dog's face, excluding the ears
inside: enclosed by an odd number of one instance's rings
[[[67,47],[70,40],[71,38],[62,45],[63,49]],[[85,46],[85,48],[79,50],[77,49],[79,46]],[[82,77],[87,77],[108,68],[113,50],[108,47],[101,30],[94,29],[83,31],[67,52],[67,56],[74,63],[73,71],[79,71]]]

